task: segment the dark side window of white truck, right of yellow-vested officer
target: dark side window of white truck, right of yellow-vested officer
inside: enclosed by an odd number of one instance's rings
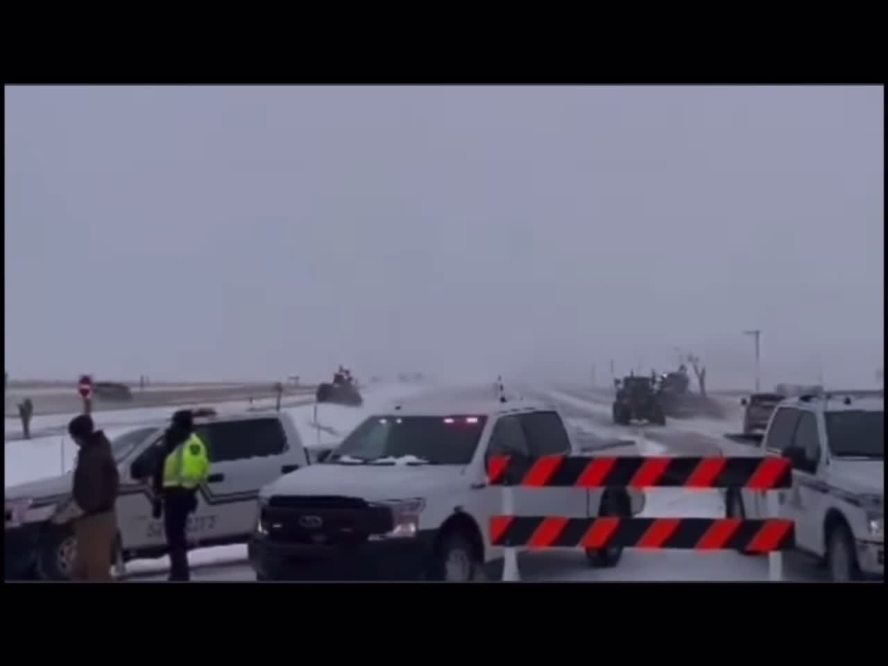
[[[207,445],[213,463],[280,456],[287,450],[287,435],[276,418],[221,421],[198,425],[195,430]]]

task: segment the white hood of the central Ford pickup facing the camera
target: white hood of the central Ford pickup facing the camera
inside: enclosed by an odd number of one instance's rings
[[[282,476],[260,496],[339,495],[371,502],[424,497],[471,482],[459,465],[313,464]]]

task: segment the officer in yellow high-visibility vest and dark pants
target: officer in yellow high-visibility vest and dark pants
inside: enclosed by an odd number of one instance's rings
[[[194,432],[192,414],[176,412],[163,437],[163,454],[155,468],[155,519],[163,513],[163,531],[170,551],[170,581],[187,581],[188,514],[197,508],[197,489],[210,476],[206,444]]]

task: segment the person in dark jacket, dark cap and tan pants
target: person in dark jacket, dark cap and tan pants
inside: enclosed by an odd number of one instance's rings
[[[67,425],[80,452],[74,470],[72,495],[82,511],[74,524],[77,542],[72,577],[82,581],[110,581],[117,540],[117,492],[120,477],[104,432],[95,430],[91,416],[76,416]]]

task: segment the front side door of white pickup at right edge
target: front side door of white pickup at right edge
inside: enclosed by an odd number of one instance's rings
[[[785,452],[792,459],[792,489],[783,508],[784,517],[796,521],[798,547],[815,554],[823,550],[820,517],[829,492],[826,482],[818,476],[821,453],[817,417],[812,412],[801,412],[792,445]]]

